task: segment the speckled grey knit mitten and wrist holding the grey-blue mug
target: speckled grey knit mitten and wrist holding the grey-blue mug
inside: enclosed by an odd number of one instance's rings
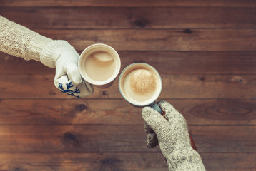
[[[142,109],[142,118],[157,134],[169,170],[205,171],[200,155],[191,146],[186,120],[169,103],[160,101],[158,105],[168,121],[150,107]]]

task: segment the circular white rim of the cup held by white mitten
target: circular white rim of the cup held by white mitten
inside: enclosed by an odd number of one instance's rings
[[[103,46],[104,48],[108,48],[110,51],[112,51],[114,53],[114,55],[115,55],[114,59],[117,59],[117,68],[116,68],[114,74],[110,78],[108,78],[107,80],[104,80],[104,81],[95,81],[94,79],[89,78],[89,76],[87,76],[87,74],[84,74],[82,72],[81,64],[82,64],[82,60],[84,59],[83,56],[88,51],[91,51],[92,49],[97,48],[97,46],[98,47]],[[95,86],[104,86],[108,83],[111,83],[112,81],[115,80],[115,78],[117,78],[117,76],[120,72],[120,69],[121,69],[121,59],[120,59],[120,56],[117,53],[117,51],[114,50],[114,48],[112,48],[111,46],[109,46],[107,44],[104,44],[104,43],[95,43],[95,44],[92,44],[92,45],[88,46],[87,48],[84,49],[84,51],[82,51],[82,53],[79,56],[78,68],[79,68],[79,73],[82,76],[82,78],[84,79],[84,81],[87,81],[88,83],[91,83],[92,85],[95,85]]]

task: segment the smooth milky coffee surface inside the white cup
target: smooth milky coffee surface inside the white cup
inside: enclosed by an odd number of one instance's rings
[[[87,57],[84,69],[94,81],[105,81],[114,74],[114,58],[105,51],[94,52]]]

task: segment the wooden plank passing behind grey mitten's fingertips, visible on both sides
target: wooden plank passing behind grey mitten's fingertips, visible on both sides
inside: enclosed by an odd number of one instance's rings
[[[255,100],[167,100],[189,125],[256,125]],[[124,100],[1,100],[0,125],[143,125]]]

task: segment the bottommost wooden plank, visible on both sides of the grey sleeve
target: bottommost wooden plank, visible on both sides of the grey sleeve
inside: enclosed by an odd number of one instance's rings
[[[256,170],[255,153],[202,153],[207,170]],[[167,171],[162,153],[1,153],[0,170]]]

